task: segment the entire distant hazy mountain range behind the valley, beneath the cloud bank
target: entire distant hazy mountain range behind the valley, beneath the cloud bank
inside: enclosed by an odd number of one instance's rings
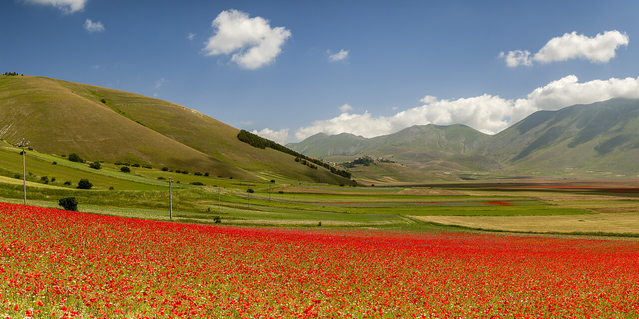
[[[639,100],[615,98],[542,110],[496,135],[463,124],[428,124],[374,138],[318,133],[287,147],[325,159],[381,156],[422,171],[511,168],[637,175]]]

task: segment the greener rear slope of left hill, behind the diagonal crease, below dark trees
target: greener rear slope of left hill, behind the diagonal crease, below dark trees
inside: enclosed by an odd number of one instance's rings
[[[315,181],[316,177],[337,183],[346,179],[319,168],[311,170],[295,163],[293,156],[273,149],[258,149],[240,142],[240,131],[196,110],[175,103],[96,87],[59,81],[70,89],[81,91],[88,100],[104,98],[107,107],[134,121],[139,121],[153,131],[188,145],[192,149],[210,154],[214,158],[258,174],[284,175],[303,181]],[[226,176],[226,175],[225,175]]]

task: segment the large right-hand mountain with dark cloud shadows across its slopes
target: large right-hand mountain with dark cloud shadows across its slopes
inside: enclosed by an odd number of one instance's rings
[[[639,100],[615,98],[538,111],[474,154],[518,170],[639,172]]]

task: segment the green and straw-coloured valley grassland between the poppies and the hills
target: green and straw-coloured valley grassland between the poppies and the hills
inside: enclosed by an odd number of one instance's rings
[[[23,201],[22,179],[15,178],[22,176],[19,152],[15,147],[0,148],[0,200],[4,202]],[[57,165],[53,165],[54,161]],[[546,193],[524,190],[339,187],[268,174],[260,175],[265,182],[247,182],[197,176],[192,172],[164,172],[158,168],[132,168],[132,172],[123,173],[112,163],[102,163],[102,169],[95,170],[88,163],[73,163],[58,155],[33,151],[27,151],[26,167],[29,205],[59,208],[60,198],[76,197],[80,211],[130,218],[169,220],[168,183],[158,177],[171,177],[180,181],[173,183],[173,221],[188,223],[213,224],[219,216],[222,225],[321,225],[414,231],[459,230],[456,227],[461,225],[466,230],[543,232],[547,225],[537,228],[535,225],[556,220],[567,233],[583,231],[581,228],[587,224],[590,232],[606,232],[609,228],[615,234],[639,234],[633,223],[617,222],[639,211],[639,200],[635,197],[569,193],[566,198],[553,196],[549,200]],[[44,184],[40,181],[42,176],[55,177],[56,181]],[[93,183],[93,189],[76,188],[77,182],[85,178]],[[267,182],[270,179],[275,182]],[[65,186],[65,181],[72,184]],[[204,186],[190,185],[191,182]],[[445,187],[455,185],[449,183]],[[247,188],[254,193],[248,193]],[[502,226],[500,220],[511,224]]]

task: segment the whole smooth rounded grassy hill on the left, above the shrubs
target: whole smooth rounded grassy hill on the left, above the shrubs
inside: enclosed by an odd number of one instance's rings
[[[36,151],[75,152],[90,161],[125,161],[210,172],[235,179],[282,176],[348,181],[295,157],[240,142],[240,130],[168,101],[43,77],[0,76],[0,138]]]

